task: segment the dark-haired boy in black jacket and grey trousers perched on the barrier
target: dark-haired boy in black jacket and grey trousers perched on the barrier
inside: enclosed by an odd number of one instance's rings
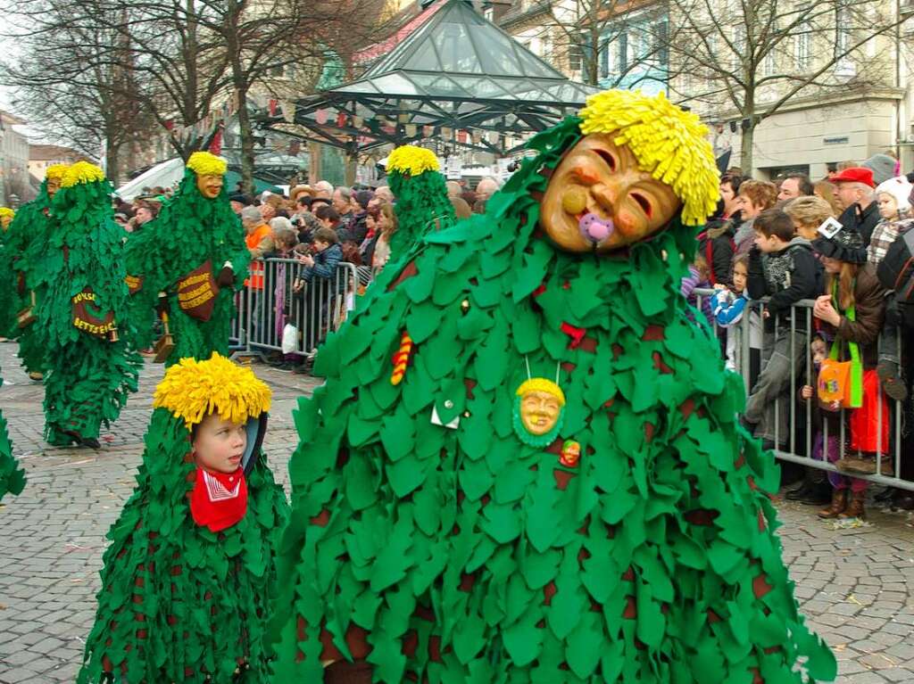
[[[795,237],[793,222],[780,209],[766,209],[755,220],[755,246],[749,250],[749,297],[771,297],[762,311],[762,370],[746,402],[744,422],[772,445],[786,443],[787,394],[792,374],[801,368],[808,347],[807,316],[792,309],[822,293],[822,268],[809,240]],[[781,399],[781,410],[775,402]]]

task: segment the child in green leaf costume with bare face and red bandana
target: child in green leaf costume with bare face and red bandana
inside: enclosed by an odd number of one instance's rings
[[[260,451],[270,388],[214,353],[170,367],[154,406],[77,681],[266,682],[274,536],[288,516]]]

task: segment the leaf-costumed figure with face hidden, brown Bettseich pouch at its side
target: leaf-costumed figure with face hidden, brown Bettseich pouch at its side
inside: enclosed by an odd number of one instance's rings
[[[35,323],[46,340],[45,438],[99,446],[137,389],[142,359],[128,350],[123,230],[112,218],[111,184],[101,169],[69,167],[54,195],[48,244],[34,281],[44,295]]]

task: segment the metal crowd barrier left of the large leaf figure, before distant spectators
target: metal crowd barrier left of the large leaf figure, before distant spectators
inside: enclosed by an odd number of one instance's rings
[[[291,352],[310,357],[327,336],[355,309],[356,267],[340,262],[332,278],[303,279],[305,267],[295,259],[267,258],[251,262],[248,287],[239,293],[239,316],[232,341],[247,353],[282,352],[287,324],[295,327]],[[261,285],[261,287],[258,287]]]

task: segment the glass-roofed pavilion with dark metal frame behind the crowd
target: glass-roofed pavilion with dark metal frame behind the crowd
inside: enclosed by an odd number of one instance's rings
[[[427,12],[360,79],[298,100],[292,121],[262,117],[260,127],[350,154],[443,137],[502,155],[522,146],[506,150],[504,134],[542,131],[598,91],[566,79],[465,0],[439,0]],[[486,132],[499,133],[498,143]]]

